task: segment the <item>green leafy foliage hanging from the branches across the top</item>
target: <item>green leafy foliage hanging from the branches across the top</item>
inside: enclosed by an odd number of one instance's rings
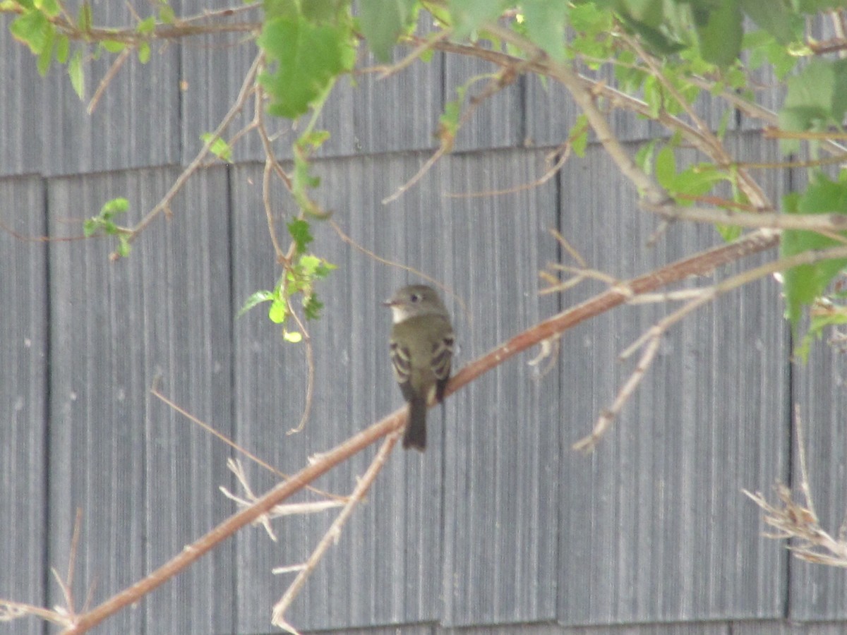
[[[309,119],[292,147],[294,168],[282,175],[298,207],[288,224],[293,252],[283,258],[274,290],[258,292],[247,304],[271,301],[271,318],[284,323],[291,316],[292,294],[299,295],[305,316],[318,316],[321,305],[314,283],[332,266],[307,252],[310,224],[329,215],[313,197],[319,179],[311,169],[313,156],[329,133],[314,130],[314,122],[335,83],[355,70],[366,48],[380,62],[390,63],[398,45],[412,44],[415,54],[426,59],[438,41],[468,47],[469,52],[486,42],[490,51],[505,51],[504,64],[540,61],[548,68],[560,64],[598,74],[611,68],[617,90],[644,104],[640,116],[676,130],[667,140],[645,144],[635,157],[639,168],[655,177],[679,206],[702,201],[717,185],[728,185],[732,196],[718,204],[729,209],[750,205],[749,188],[745,189],[738,166],[711,148],[720,145],[734,109],[724,110],[717,130],[700,135],[699,146],[691,132],[699,124],[695,121],[685,131],[675,122],[695,117],[694,104],[705,92],[732,95],[733,103],[754,104],[750,73],[767,64],[787,86],[778,124],[795,135],[781,142],[783,152],[798,152],[805,135],[810,139],[806,147],[817,156],[826,135],[842,133],[847,62],[817,55],[807,25],[819,12],[845,6],[847,0],[264,0],[263,17],[253,33],[264,58],[257,88],[267,100],[269,115]],[[97,26],[96,10],[89,2],[80,5],[74,18],[62,0],[0,0],[0,11],[16,14],[9,30],[30,48],[42,73],[53,61],[67,65],[80,97],[89,59],[133,49],[146,62],[150,44],[163,27],[182,24],[163,0],[154,3],[147,17],[138,17],[123,29]],[[416,35],[423,22],[435,25],[435,34]],[[745,29],[750,24],[754,28]],[[505,35],[504,29],[515,36]],[[847,43],[841,50],[845,48]],[[472,87],[487,82],[484,94],[499,90],[507,84],[508,70],[472,78],[445,100],[440,152],[451,151],[462,123],[479,101],[470,96]],[[573,125],[567,143],[577,154],[584,152],[589,129],[585,118]],[[203,141],[214,156],[231,160],[232,148],[224,138],[208,134]],[[693,141],[706,160],[686,164],[678,151]],[[811,176],[805,192],[785,198],[783,213],[844,213],[844,177],[829,179],[814,170]],[[86,235],[116,235],[119,252],[128,253],[130,240],[114,224],[114,210],[107,206],[86,221]],[[727,240],[740,233],[720,225],[717,230]],[[783,254],[821,249],[833,240],[839,237],[789,230],[783,235]],[[795,327],[804,308],[820,301],[844,266],[840,261],[820,262],[788,273],[786,314]]]

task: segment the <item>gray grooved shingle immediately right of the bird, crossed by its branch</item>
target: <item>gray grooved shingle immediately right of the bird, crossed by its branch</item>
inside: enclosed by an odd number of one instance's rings
[[[518,187],[544,172],[544,153],[449,157],[445,192]],[[459,362],[468,362],[555,311],[536,295],[556,258],[554,184],[503,196],[446,198],[442,228],[457,308]],[[451,399],[444,449],[444,621],[448,625],[551,619],[556,592],[555,374],[539,377],[534,351]]]

